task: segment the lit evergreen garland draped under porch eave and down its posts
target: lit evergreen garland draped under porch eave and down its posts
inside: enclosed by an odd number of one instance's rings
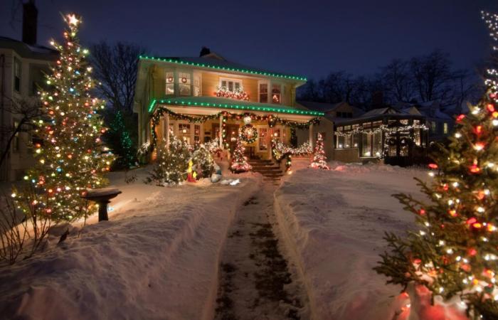
[[[260,116],[258,114],[253,114],[250,112],[244,112],[242,114],[238,113],[232,113],[228,111],[221,111],[216,114],[207,114],[203,116],[190,116],[188,114],[181,114],[181,113],[176,113],[174,111],[169,110],[166,107],[157,107],[157,109],[154,111],[154,114],[152,115],[152,121],[151,121],[151,132],[152,132],[152,141],[148,146],[147,152],[152,152],[156,146],[157,143],[157,134],[155,127],[157,124],[159,124],[161,117],[164,116],[164,114],[168,114],[169,117],[171,117],[174,120],[184,120],[188,121],[191,123],[202,123],[206,122],[208,120],[212,119],[218,119],[220,116],[223,116],[223,123],[222,123],[222,137],[223,137],[223,145],[228,148],[229,144],[226,141],[226,119],[243,119],[244,117],[251,117],[251,120],[254,121],[266,121],[268,126],[270,128],[275,127],[276,124],[281,124],[285,127],[290,127],[291,129],[308,129],[310,125],[312,124],[319,124],[320,119],[319,117],[315,117],[313,119],[310,119],[308,122],[297,122],[297,121],[291,121],[291,120],[286,120],[282,119],[276,115],[273,114],[268,114],[264,116]]]

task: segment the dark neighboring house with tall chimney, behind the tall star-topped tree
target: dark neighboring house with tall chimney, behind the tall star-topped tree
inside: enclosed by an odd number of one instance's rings
[[[38,87],[43,87],[44,74],[50,73],[58,53],[36,45],[36,16],[33,3],[23,4],[23,40],[0,36],[0,125],[2,129],[1,149],[6,148],[9,132],[18,124],[19,115],[12,114],[12,102],[36,99]],[[0,168],[0,180],[15,181],[24,171],[33,166],[34,159],[28,149],[31,136],[19,132],[11,143],[6,161]]]

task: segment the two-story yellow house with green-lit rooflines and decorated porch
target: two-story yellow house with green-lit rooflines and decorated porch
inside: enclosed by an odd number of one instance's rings
[[[248,156],[270,159],[272,139],[290,144],[294,136],[302,144],[323,132],[332,155],[332,122],[295,102],[305,82],[233,63],[208,48],[199,57],[141,56],[134,100],[139,143],[168,146],[169,131],[191,145],[218,139],[229,156],[241,130]]]

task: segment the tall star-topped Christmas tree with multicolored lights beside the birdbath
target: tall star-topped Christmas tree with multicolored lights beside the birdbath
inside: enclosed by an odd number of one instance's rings
[[[85,214],[85,200],[80,198],[88,188],[105,186],[104,174],[114,156],[102,145],[105,132],[97,110],[104,103],[92,97],[92,68],[86,63],[88,50],[81,48],[78,27],[81,18],[64,17],[68,29],[63,45],[51,42],[59,51],[53,74],[47,76],[48,90],[40,92],[43,120],[37,122],[34,135],[43,142],[33,146],[36,166],[24,179],[33,183],[36,199],[18,194],[18,206],[29,213],[37,206],[54,220],[72,220]],[[92,208],[90,208],[92,210]]]

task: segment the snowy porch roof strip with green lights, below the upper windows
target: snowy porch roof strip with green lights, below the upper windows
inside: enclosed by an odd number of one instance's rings
[[[307,115],[314,117],[323,117],[323,112],[300,110],[296,107],[286,105],[268,105],[265,103],[251,102],[224,99],[220,97],[173,97],[163,100],[152,100],[149,106],[149,112],[154,111],[157,104],[160,105],[179,105],[187,107],[201,107],[201,108],[221,108],[230,110],[245,110],[245,111],[259,111],[259,112],[274,112],[296,115]]]

